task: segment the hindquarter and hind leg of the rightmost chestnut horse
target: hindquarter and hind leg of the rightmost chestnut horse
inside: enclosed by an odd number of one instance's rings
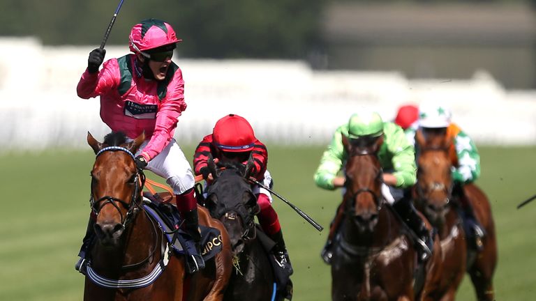
[[[484,248],[477,254],[475,263],[468,267],[478,300],[493,300],[493,272],[497,264],[497,241],[495,224],[491,215],[489,200],[476,185],[466,185],[466,194],[475,208],[475,215],[486,229]]]

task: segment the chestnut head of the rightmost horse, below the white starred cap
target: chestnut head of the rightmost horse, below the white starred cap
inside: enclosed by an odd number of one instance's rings
[[[442,224],[452,194],[451,141],[444,130],[415,133],[417,156],[417,207],[432,224]]]

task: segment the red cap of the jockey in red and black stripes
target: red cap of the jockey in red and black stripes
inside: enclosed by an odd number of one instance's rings
[[[235,114],[229,114],[216,122],[212,139],[215,146],[228,152],[251,151],[256,140],[248,121]]]

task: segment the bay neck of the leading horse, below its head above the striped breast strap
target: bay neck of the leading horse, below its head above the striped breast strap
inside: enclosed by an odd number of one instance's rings
[[[153,225],[144,210],[140,210],[128,229],[124,233],[121,245],[115,248],[107,248],[96,245],[93,255],[93,263],[96,268],[101,266],[107,270],[121,270],[122,267],[134,265],[144,261],[154,250],[155,242],[158,241]],[[158,244],[160,242],[158,241]],[[158,256],[159,252],[155,252]]]

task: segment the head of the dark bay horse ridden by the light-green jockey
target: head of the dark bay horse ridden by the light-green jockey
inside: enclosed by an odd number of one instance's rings
[[[383,135],[359,139],[343,136],[343,145],[348,153],[345,165],[345,212],[353,217],[361,231],[373,231],[378,224],[383,202],[383,178],[377,154],[382,143]]]

